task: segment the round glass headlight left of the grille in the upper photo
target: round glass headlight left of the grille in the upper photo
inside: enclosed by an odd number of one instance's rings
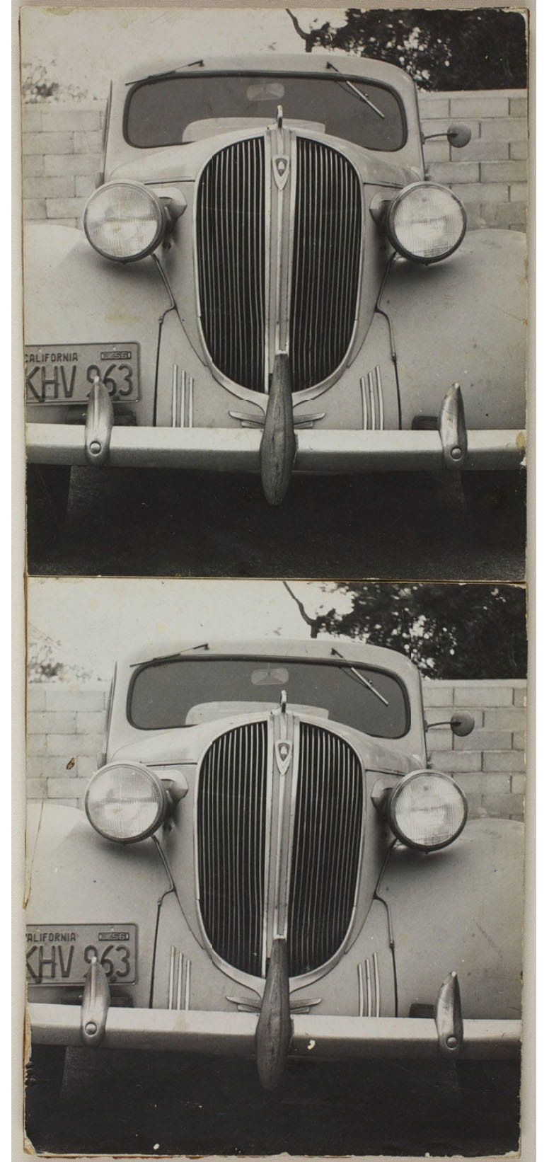
[[[157,195],[135,181],[110,181],[101,186],[84,210],[88,242],[104,258],[122,263],[144,258],[156,250],[165,224]]]

